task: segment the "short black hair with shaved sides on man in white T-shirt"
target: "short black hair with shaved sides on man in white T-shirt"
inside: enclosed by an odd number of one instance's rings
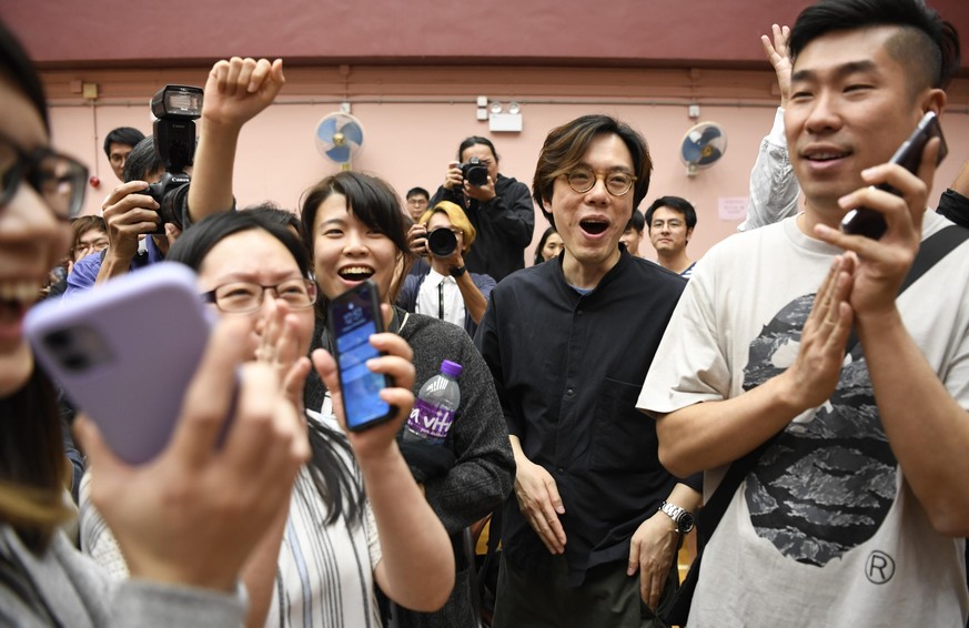
[[[790,31],[791,61],[819,37],[875,27],[899,27],[886,49],[906,68],[912,97],[949,87],[960,63],[959,33],[922,0],[821,0],[801,11]]]

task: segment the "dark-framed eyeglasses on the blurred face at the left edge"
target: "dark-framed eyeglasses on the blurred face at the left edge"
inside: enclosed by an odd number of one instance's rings
[[[0,136],[0,207],[27,181],[61,220],[77,216],[84,205],[88,168],[44,146],[28,153]]]

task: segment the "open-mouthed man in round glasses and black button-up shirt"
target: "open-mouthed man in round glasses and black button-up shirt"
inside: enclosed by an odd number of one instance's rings
[[[495,628],[659,626],[675,592],[699,478],[663,468],[635,406],[685,282],[618,247],[652,168],[612,118],[553,130],[533,194],[565,250],[498,284],[475,337],[517,465]]]

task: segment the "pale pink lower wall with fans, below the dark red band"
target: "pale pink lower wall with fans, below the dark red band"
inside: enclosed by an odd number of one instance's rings
[[[204,84],[204,69],[49,71],[54,142],[80,156],[103,182],[90,190],[85,210],[94,212],[118,183],[100,146],[119,125],[149,133],[149,97],[166,82]],[[95,82],[93,104],[73,93],[77,80]],[[531,185],[535,160],[547,131],[577,115],[617,115],[647,139],[655,162],[649,194],[689,199],[699,222],[689,252],[699,257],[733,233],[737,221],[717,215],[720,197],[746,196],[750,166],[763,135],[770,128],[776,97],[770,72],[704,70],[507,69],[507,68],[291,68],[276,104],[252,121],[239,145],[235,192],[240,206],[272,200],[296,209],[300,194],[337,166],[321,156],[313,142],[320,119],[350,101],[365,129],[364,150],[354,170],[380,174],[404,193],[422,185],[433,191],[444,176],[458,142],[485,135],[502,158],[501,171]],[[943,128],[950,158],[939,170],[932,199],[969,159],[969,81],[953,87],[955,107]],[[522,133],[489,133],[475,120],[474,97],[487,95],[523,103]],[[729,144],[720,162],[686,175],[678,159],[683,134],[694,123],[687,103],[699,102],[700,121],[724,126]],[[546,223],[536,216],[535,240]],[[643,251],[652,254],[644,242]],[[531,259],[531,253],[528,254]]]

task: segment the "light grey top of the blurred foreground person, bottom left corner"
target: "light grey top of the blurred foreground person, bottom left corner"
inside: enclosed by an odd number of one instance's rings
[[[113,580],[62,533],[36,556],[0,525],[0,626],[242,626],[245,618],[244,594]]]

